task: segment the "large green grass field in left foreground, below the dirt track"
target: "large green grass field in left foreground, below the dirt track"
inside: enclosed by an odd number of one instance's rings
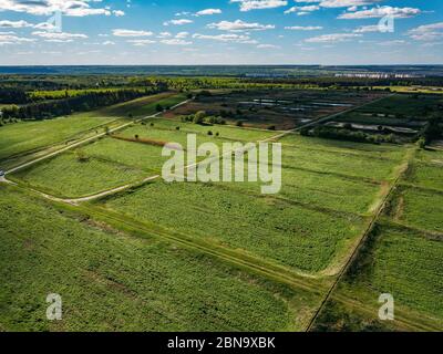
[[[3,331],[300,331],[319,302],[12,187],[0,186],[0,206]],[[50,293],[62,321],[47,321]]]

